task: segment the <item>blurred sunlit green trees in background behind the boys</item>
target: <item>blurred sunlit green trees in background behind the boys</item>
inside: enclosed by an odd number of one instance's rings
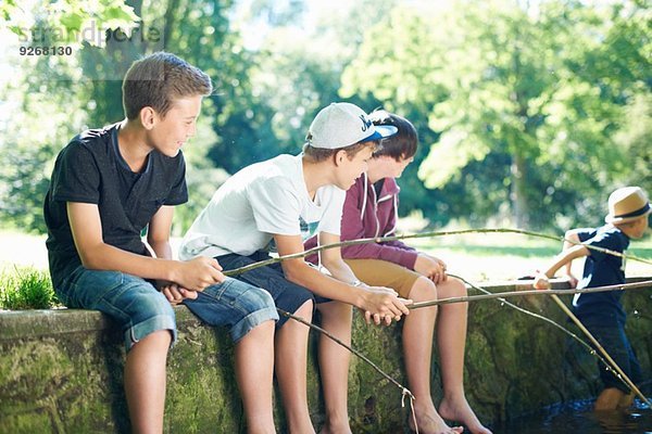
[[[560,231],[599,225],[617,187],[652,190],[644,1],[60,0],[58,14],[16,4],[0,7],[2,227],[45,230],[55,154],[82,129],[122,119],[122,76],[156,50],[216,89],[185,149],[191,195],[176,234],[229,174],[299,152],[331,101],[414,123],[421,148],[399,180],[400,212],[435,226]],[[90,23],[104,38],[72,41],[70,56],[18,54],[45,44],[25,29]]]

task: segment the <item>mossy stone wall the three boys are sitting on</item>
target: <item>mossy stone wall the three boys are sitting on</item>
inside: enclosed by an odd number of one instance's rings
[[[513,283],[492,292],[512,291]],[[475,294],[471,291],[471,294]],[[652,294],[629,291],[628,334],[643,372],[651,372]],[[570,297],[564,297],[569,303]],[[548,297],[510,298],[579,333]],[[244,432],[233,370],[233,344],[177,307],[179,342],[168,360],[165,432]],[[400,324],[366,326],[355,314],[353,346],[406,385]],[[311,332],[309,398],[313,422],[323,403]],[[437,353],[437,352],[436,352]],[[0,433],[124,433],[129,431],[122,388],[124,349],[120,333],[88,310],[0,312]],[[553,326],[498,301],[469,306],[465,385],[486,423],[514,418],[563,400],[590,398],[600,390],[594,358]],[[434,357],[434,394],[441,396]],[[355,433],[408,432],[401,391],[356,357],[350,370],[350,416]],[[280,405],[276,420],[283,432]]]

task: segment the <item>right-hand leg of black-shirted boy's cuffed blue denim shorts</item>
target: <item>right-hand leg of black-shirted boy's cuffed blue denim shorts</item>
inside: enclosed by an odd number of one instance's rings
[[[278,320],[274,299],[266,291],[236,279],[226,278],[197,295],[184,304],[206,324],[227,326],[234,342],[265,321]]]

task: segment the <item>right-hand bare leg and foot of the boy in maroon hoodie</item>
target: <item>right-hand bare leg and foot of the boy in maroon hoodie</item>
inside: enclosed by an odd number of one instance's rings
[[[437,285],[439,298],[466,295],[462,281],[448,278]],[[441,417],[462,422],[473,434],[491,434],[478,420],[464,395],[464,348],[468,303],[440,306],[437,344],[441,360],[443,399],[439,405]]]

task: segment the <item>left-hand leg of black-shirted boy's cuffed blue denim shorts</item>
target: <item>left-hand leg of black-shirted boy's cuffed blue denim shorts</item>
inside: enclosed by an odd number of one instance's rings
[[[67,307],[99,310],[116,321],[127,352],[135,343],[159,330],[170,330],[173,344],[176,341],[176,323],[170,302],[145,279],[79,266],[55,292]]]

